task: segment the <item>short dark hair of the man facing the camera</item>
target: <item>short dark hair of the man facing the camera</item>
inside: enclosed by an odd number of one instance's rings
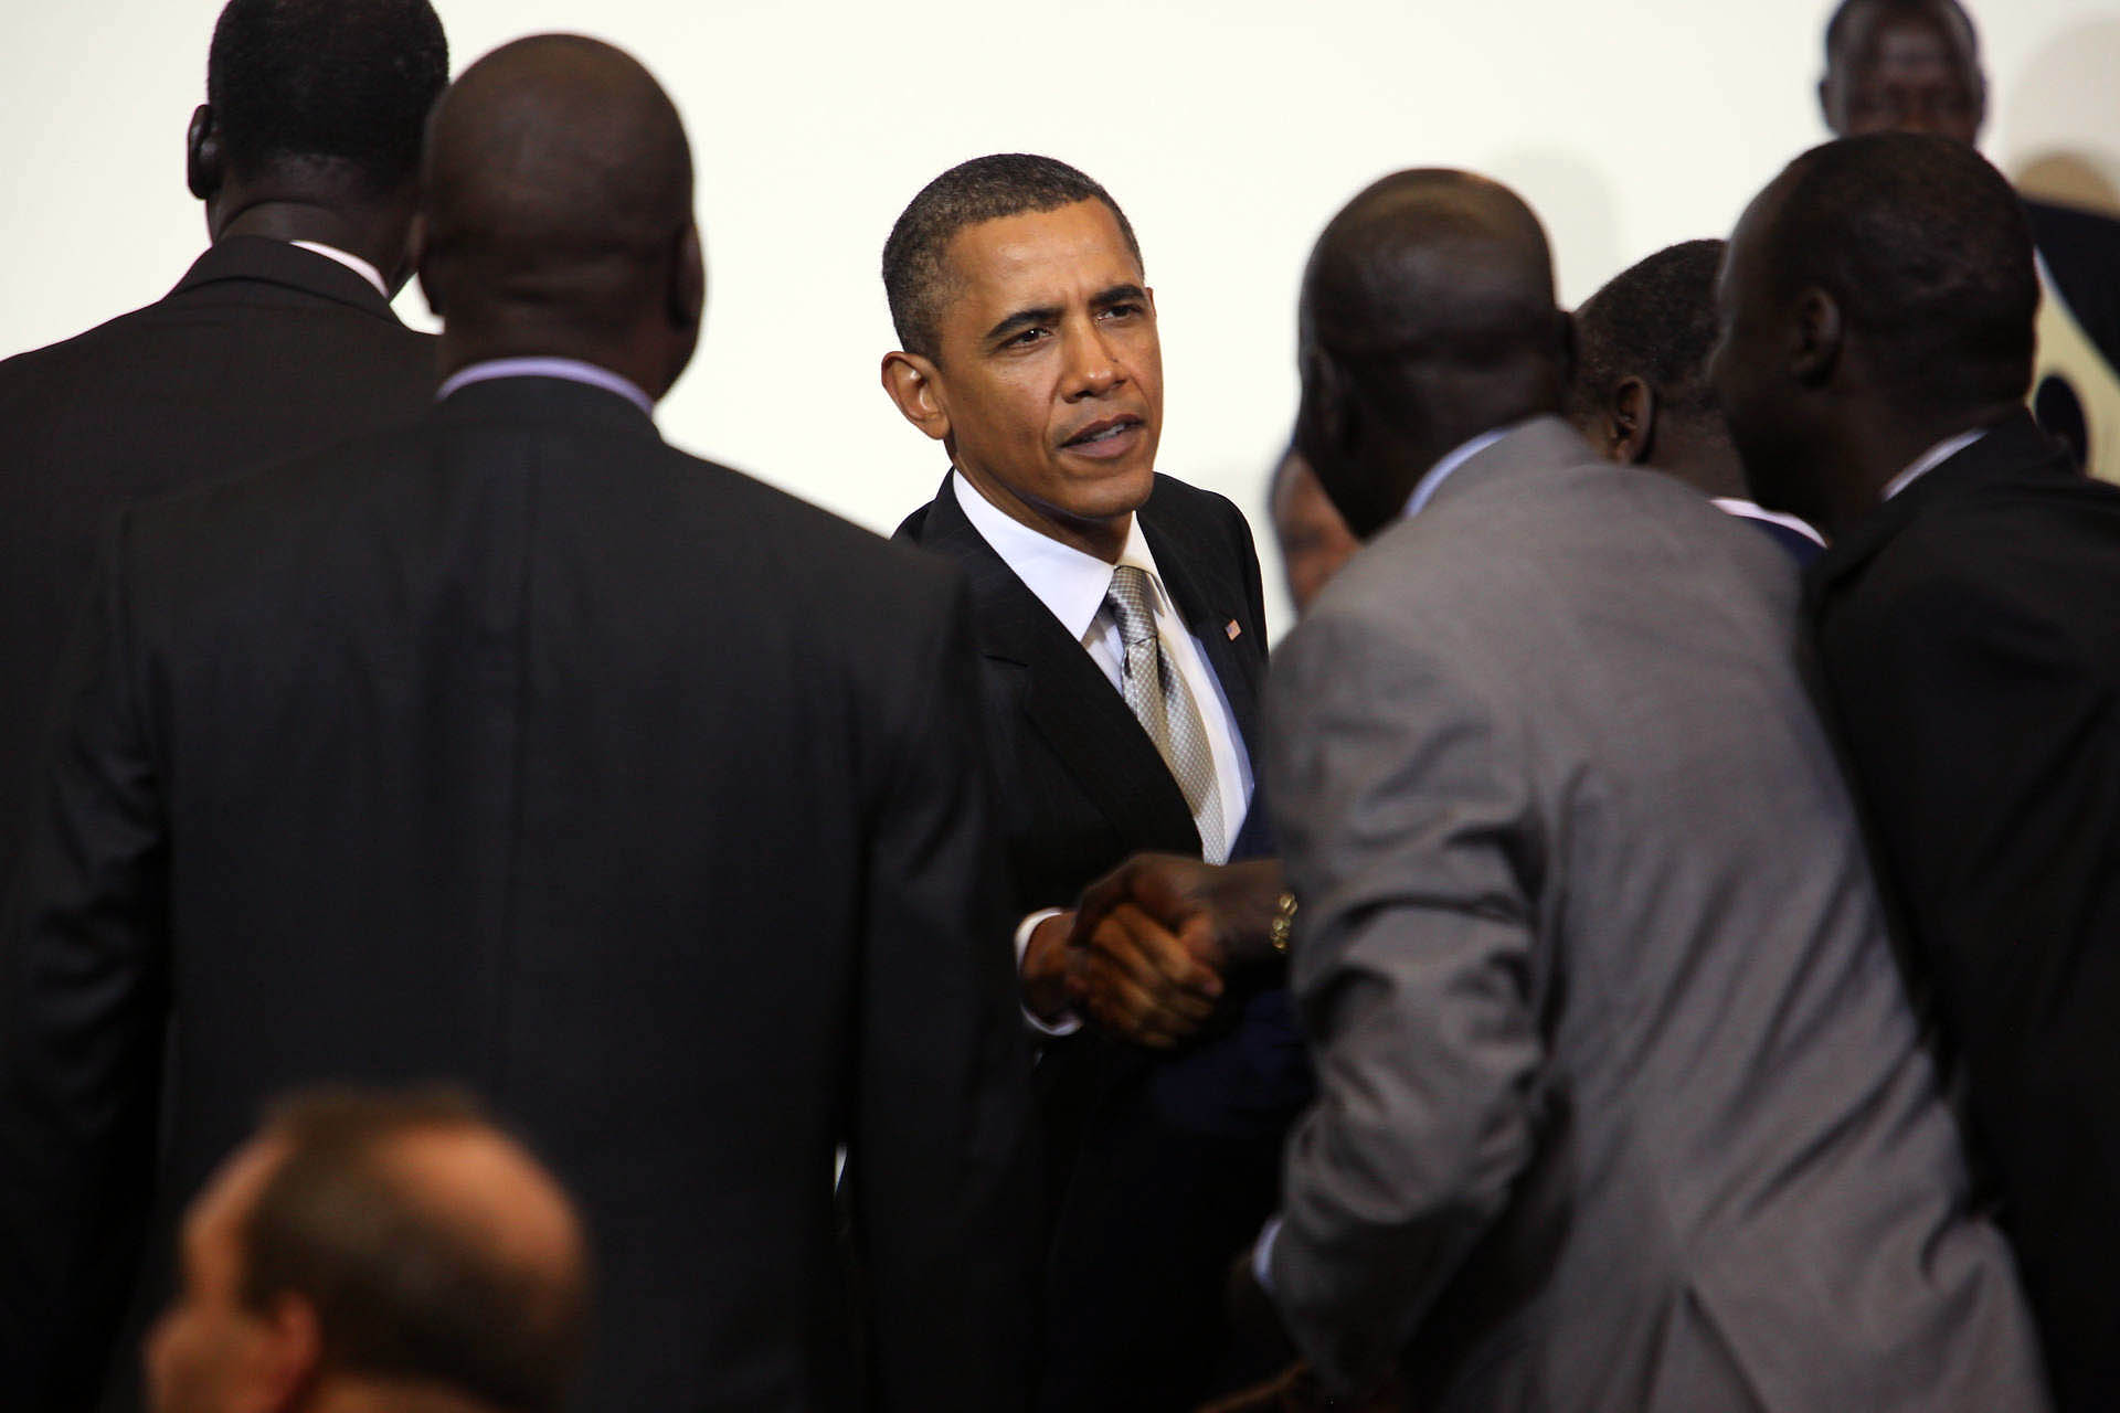
[[[1052,157],[994,153],[973,157],[920,189],[884,242],[884,297],[907,354],[935,356],[950,242],[965,227],[1026,212],[1056,212],[1077,201],[1102,201],[1141,263],[1141,242],[1126,212],[1094,180]]]

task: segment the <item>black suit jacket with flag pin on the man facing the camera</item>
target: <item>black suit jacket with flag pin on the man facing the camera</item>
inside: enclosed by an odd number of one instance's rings
[[[1168,477],[1138,515],[1255,752],[1266,612],[1251,530],[1221,496]],[[1018,913],[1073,907],[1143,849],[1198,856],[1185,797],[1126,699],[948,481],[899,538],[971,578]],[[1221,1273],[1272,1210],[1280,1131],[1308,1093],[1285,968],[1266,970],[1232,985],[1234,1027],[1174,1059],[1081,1034],[1039,1061],[1054,1205],[1043,1407],[1189,1407],[1204,1392]]]

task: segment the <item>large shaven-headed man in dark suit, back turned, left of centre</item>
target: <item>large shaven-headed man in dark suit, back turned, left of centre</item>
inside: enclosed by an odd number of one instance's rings
[[[284,1087],[477,1089],[589,1222],[583,1407],[1018,1407],[960,576],[655,434],[704,267],[638,64],[496,51],[422,189],[439,405],[121,515],[61,676],[0,932],[0,1385],[95,1366],[172,1021],[178,1199]]]

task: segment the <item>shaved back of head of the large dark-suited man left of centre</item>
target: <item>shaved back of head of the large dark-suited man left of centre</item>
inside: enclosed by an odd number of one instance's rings
[[[560,354],[659,396],[704,303],[691,146],[655,78],[598,40],[505,44],[426,136],[420,282],[443,362]]]

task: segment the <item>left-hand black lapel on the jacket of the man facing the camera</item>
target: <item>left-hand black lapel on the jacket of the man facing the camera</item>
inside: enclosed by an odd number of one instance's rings
[[[956,489],[941,491],[907,525],[914,540],[956,559],[971,583],[979,655],[1022,680],[1022,712],[1068,775],[1111,820],[1128,847],[1191,841],[1185,797],[1153,741],[1060,621],[1052,616],[986,536],[965,519]],[[1162,564],[1158,559],[1158,564]]]

